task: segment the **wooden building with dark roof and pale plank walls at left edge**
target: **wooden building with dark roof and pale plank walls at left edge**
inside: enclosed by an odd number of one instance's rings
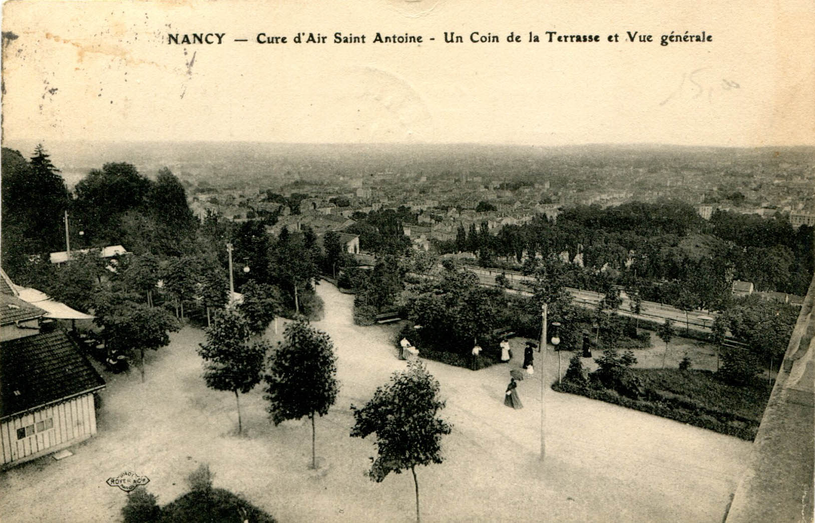
[[[0,293],[3,468],[96,434],[94,394],[104,388],[104,380],[64,330],[43,328],[45,313]]]

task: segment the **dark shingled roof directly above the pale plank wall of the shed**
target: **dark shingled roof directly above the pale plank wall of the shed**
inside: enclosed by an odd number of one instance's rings
[[[0,372],[0,419],[104,387],[62,330],[3,342]]]

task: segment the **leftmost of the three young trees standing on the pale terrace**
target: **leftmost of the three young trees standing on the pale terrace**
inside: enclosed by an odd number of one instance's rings
[[[238,393],[246,394],[260,382],[268,342],[250,341],[249,321],[233,309],[215,312],[215,319],[205,333],[207,341],[198,349],[198,354],[205,360],[204,380],[211,389],[230,390],[235,394],[240,434]]]

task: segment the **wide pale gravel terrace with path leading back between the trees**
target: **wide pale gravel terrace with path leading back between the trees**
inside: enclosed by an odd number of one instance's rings
[[[348,435],[350,404],[405,366],[392,346],[398,326],[353,325],[352,296],[326,282],[318,293],[326,315],[314,325],[334,341],[341,381],[337,404],[317,420],[319,470],[308,469],[310,424],[272,425],[261,387],[241,397],[245,435],[235,434],[235,397],[206,388],[196,354],[204,335],[185,328],[149,355],[144,384],[138,372],[106,376],[98,437],[68,459],[0,473],[2,521],[119,521],[126,495],[108,477],[146,475],[165,504],[187,490],[200,463],[215,486],[281,522],[415,521],[411,475],[371,482],[364,472],[375,448]],[[267,336],[280,338],[271,328]],[[749,442],[547,389],[541,462],[540,372],[518,386],[524,408],[503,403],[523,352],[521,339],[512,344],[513,362],[478,372],[427,362],[454,426],[444,463],[417,470],[423,521],[722,521]],[[551,352],[545,370],[549,382]]]

